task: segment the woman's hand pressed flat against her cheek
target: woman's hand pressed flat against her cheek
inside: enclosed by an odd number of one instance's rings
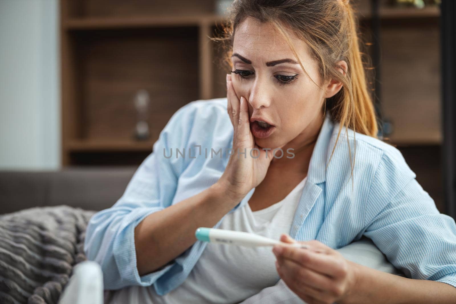
[[[233,152],[219,182],[235,200],[240,200],[264,180],[274,155],[271,149],[264,150],[255,144],[250,130],[248,101],[245,97],[238,98],[230,74],[227,74],[227,99],[228,115],[234,128]]]

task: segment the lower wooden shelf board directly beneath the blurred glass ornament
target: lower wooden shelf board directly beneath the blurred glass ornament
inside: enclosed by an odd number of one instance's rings
[[[115,141],[115,140],[72,140],[67,143],[67,149],[70,152],[83,151],[150,151],[152,152],[153,145],[157,139],[149,139],[147,141]]]

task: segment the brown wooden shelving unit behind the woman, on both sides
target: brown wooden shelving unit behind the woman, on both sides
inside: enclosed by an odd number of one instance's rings
[[[228,71],[216,64],[215,44],[208,38],[225,21],[214,14],[214,2],[61,0],[63,166],[135,163],[152,152],[161,129],[178,108],[192,100],[226,96]],[[369,37],[369,1],[358,2],[363,36]],[[393,142],[440,142],[440,118],[426,118],[440,110],[435,104],[440,102],[439,14],[436,7],[380,10],[384,20],[382,106],[398,124]],[[423,41],[418,39],[422,33],[429,43],[417,46],[417,41]],[[398,40],[407,43],[401,46]],[[422,56],[428,57],[417,65]],[[407,73],[399,72],[405,78],[404,90],[387,78],[397,75],[397,67],[413,73],[407,79]],[[150,93],[152,102],[147,141],[133,139],[133,98],[140,89]],[[412,114],[421,120],[399,119],[416,100],[420,104]],[[427,106],[420,114],[423,104]],[[425,128],[427,133],[422,131]]]

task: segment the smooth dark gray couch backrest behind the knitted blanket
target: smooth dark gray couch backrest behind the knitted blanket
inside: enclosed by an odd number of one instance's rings
[[[136,167],[0,171],[0,214],[37,206],[68,205],[99,211],[122,196]]]

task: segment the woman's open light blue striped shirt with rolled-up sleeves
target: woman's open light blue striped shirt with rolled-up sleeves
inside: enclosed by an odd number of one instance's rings
[[[440,214],[399,150],[379,139],[343,128],[326,168],[338,129],[326,115],[290,236],[334,249],[366,236],[407,277],[456,287],[455,221]],[[353,155],[355,143],[351,177],[349,146]],[[105,289],[153,284],[163,295],[187,278],[207,243],[197,241],[164,268],[140,276],[134,229],[149,214],[217,182],[232,144],[226,98],[193,101],[173,114],[123,196],[89,222],[84,247],[101,265]],[[230,212],[248,202],[254,190]]]

